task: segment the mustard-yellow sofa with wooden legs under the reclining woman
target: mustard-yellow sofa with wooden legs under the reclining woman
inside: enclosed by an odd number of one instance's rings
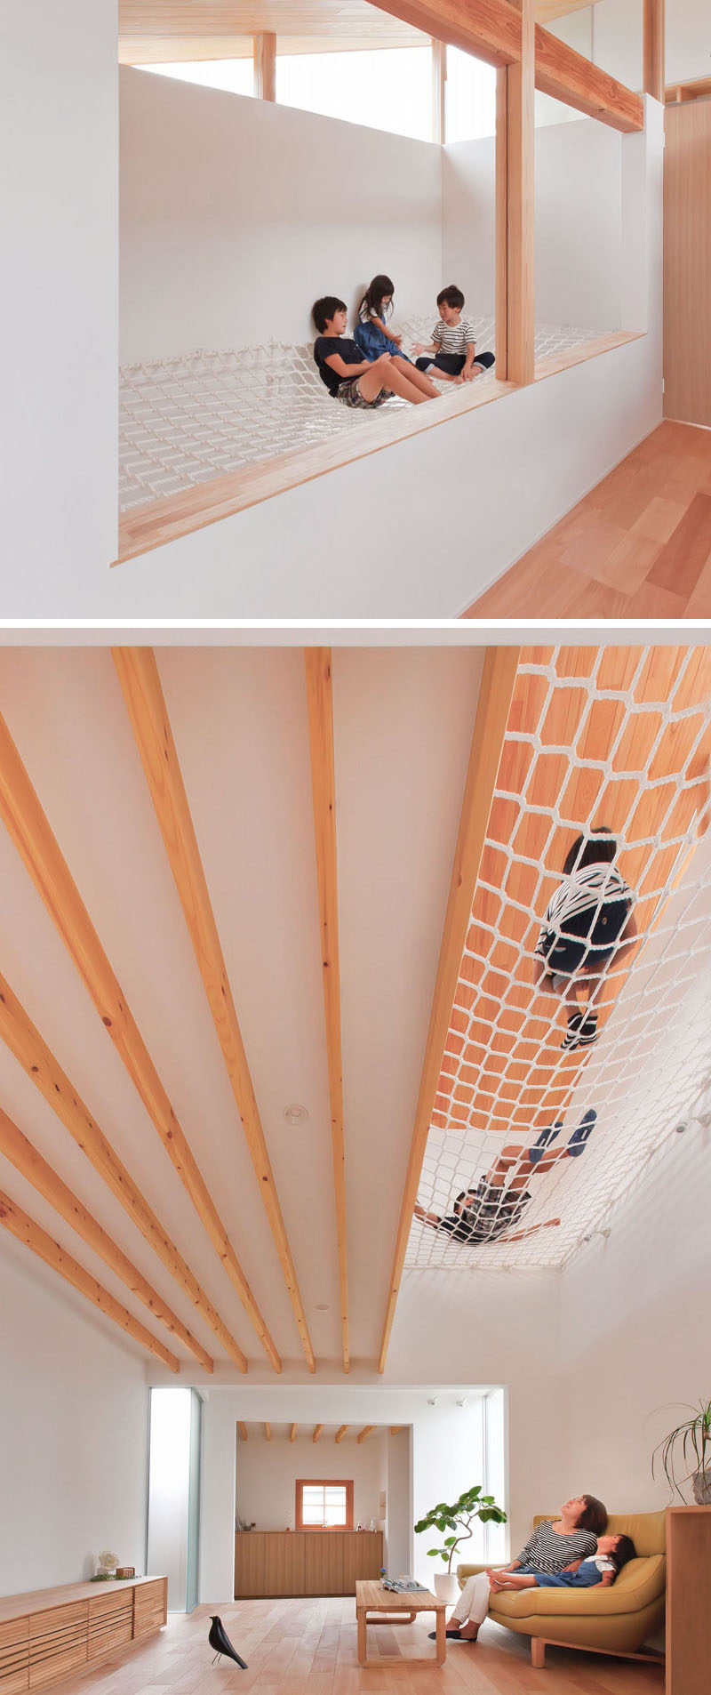
[[[554,1515],[540,1514],[533,1524],[542,1524],[543,1517]],[[489,1619],[532,1637],[532,1664],[543,1664],[547,1642],[587,1648],[601,1654],[662,1658],[652,1651],[643,1654],[642,1648],[664,1619],[665,1515],[611,1514],[608,1534],[615,1536],[618,1531],[631,1536],[637,1559],[623,1566],[609,1588],[526,1588],[491,1597]],[[476,1571],[484,1571],[484,1566],[459,1566],[459,1587],[464,1588]]]

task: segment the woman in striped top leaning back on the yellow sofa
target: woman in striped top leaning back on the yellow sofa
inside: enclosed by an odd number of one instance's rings
[[[511,1559],[496,1573],[501,1580],[506,1571],[540,1573],[543,1578],[559,1576],[574,1559],[587,1559],[598,1553],[598,1536],[604,1534],[608,1509],[596,1495],[574,1495],[560,1507],[560,1519],[543,1519],[528,1537],[518,1559]],[[489,1610],[491,1576],[477,1571],[467,1578],[459,1602],[447,1627],[447,1636],[457,1642],[476,1642],[479,1626]]]

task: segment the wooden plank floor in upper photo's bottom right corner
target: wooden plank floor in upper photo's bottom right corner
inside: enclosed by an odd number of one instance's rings
[[[711,619],[711,431],[660,424],[469,619]]]

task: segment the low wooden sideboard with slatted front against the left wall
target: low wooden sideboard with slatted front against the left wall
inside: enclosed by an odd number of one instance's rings
[[[0,1600],[0,1695],[44,1690],[168,1617],[168,1578],[64,1583]]]

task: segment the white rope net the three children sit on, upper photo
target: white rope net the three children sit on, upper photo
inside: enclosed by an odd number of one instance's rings
[[[428,341],[432,317],[401,327],[403,351]],[[494,320],[474,322],[481,351],[494,347]],[[540,327],[537,358],[592,341],[598,332]],[[482,375],[477,383],[491,383]],[[405,407],[393,395],[389,408]],[[118,505],[122,512],[259,464],[279,453],[367,429],[376,412],[333,403],[311,344],[179,354],[125,364],[118,392]]]

